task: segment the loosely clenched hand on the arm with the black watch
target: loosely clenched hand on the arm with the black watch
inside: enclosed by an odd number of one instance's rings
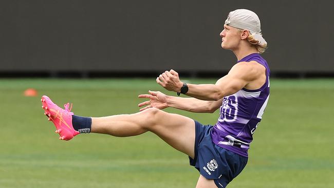
[[[171,69],[165,71],[156,79],[157,83],[169,91],[180,92],[183,83],[179,79],[179,74]]]

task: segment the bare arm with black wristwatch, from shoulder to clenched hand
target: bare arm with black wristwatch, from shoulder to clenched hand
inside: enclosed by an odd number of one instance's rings
[[[265,71],[258,63],[240,62],[234,65],[229,73],[215,84],[188,84],[186,95],[200,100],[218,101],[225,96],[244,88],[251,82],[263,76]],[[167,90],[180,92],[183,83],[174,70],[165,71],[157,78],[157,83]]]

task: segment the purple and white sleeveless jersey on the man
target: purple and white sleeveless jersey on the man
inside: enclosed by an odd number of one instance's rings
[[[220,116],[211,131],[212,141],[241,156],[248,157],[253,133],[262,119],[269,99],[269,66],[258,53],[247,55],[239,62],[256,61],[266,67],[266,83],[259,89],[241,89],[224,97]],[[241,145],[240,145],[241,143]]]

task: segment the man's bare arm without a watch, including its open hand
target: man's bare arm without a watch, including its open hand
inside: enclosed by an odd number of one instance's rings
[[[145,106],[140,111],[155,107],[164,109],[166,107],[174,107],[177,109],[191,112],[209,112],[213,113],[221,106],[222,99],[219,101],[203,101],[195,98],[182,98],[166,96],[160,91],[149,91],[150,94],[139,95],[139,98],[147,98],[149,101],[138,104],[139,107]]]

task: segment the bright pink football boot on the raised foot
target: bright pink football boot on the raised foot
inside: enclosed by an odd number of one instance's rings
[[[42,96],[42,108],[44,109],[49,121],[52,121],[54,126],[57,128],[55,133],[60,135],[61,140],[70,140],[74,136],[78,135],[79,132],[75,130],[72,126],[72,115],[71,112],[72,105],[70,109],[69,103],[64,104],[65,109],[60,108],[56,104],[54,104],[50,98],[47,96]]]

